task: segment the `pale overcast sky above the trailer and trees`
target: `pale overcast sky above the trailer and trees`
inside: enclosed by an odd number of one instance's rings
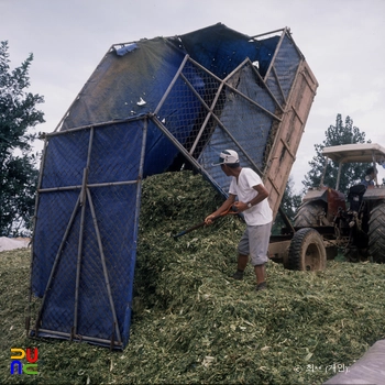
[[[290,174],[295,193],[338,113],[385,146],[385,0],[0,0],[0,15],[11,67],[34,55],[30,91],[44,96],[46,121],[37,132],[55,130],[112,44],[220,22],[250,36],[290,28],[319,82]]]

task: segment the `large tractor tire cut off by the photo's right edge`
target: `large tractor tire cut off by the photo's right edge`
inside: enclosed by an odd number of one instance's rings
[[[385,263],[385,201],[371,211],[369,220],[369,254],[371,262]]]

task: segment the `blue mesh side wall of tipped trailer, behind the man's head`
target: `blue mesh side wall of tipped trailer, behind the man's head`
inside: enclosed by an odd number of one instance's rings
[[[292,68],[292,84],[297,66],[298,57],[295,70]],[[271,90],[248,58],[224,79],[189,58],[158,108],[157,124],[173,135],[187,157],[199,162],[202,172],[224,193],[229,178],[211,165],[222,150],[235,150],[242,165],[262,176],[285,108],[275,92],[282,97],[280,88]],[[177,109],[178,113],[173,113],[175,106],[188,106],[187,112]]]

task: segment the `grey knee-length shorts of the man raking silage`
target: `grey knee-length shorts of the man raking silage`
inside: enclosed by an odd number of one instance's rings
[[[250,255],[253,266],[267,262],[268,242],[272,232],[272,222],[261,226],[248,226],[240,243],[238,252],[241,255]]]

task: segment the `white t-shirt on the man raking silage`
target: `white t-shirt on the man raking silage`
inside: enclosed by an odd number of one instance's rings
[[[239,201],[248,204],[255,198],[258,193],[253,186],[263,185],[260,176],[251,168],[244,167],[241,169],[237,178],[232,177],[229,193],[237,195]],[[273,221],[273,211],[268,205],[267,198],[260,204],[243,211],[244,220],[249,226],[266,224]]]

